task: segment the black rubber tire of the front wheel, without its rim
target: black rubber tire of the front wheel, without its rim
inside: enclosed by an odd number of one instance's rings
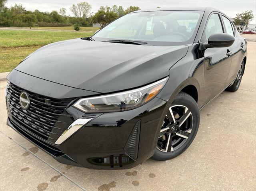
[[[174,105],[184,105],[191,111],[193,116],[193,126],[191,134],[186,140],[186,142],[184,142],[184,144],[180,146],[180,148],[178,148],[177,150],[174,150],[172,152],[162,152],[156,148],[155,153],[152,156],[152,159],[168,160],[182,154],[182,152],[184,152],[190,146],[190,144],[193,142],[197,134],[200,123],[200,113],[196,101],[190,95],[181,92],[172,102],[171,106]]]

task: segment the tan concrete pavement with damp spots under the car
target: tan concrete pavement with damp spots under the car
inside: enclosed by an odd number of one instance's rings
[[[256,42],[240,89],[224,91],[200,111],[190,148],[168,161],[128,170],[90,170],[58,163],[6,126],[0,81],[0,190],[256,190]]]

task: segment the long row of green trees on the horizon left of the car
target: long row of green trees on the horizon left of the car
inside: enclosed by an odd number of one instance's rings
[[[22,4],[15,4],[8,8],[6,2],[7,0],[0,0],[0,26],[7,27],[92,26],[93,23],[99,23],[104,27],[118,17],[140,10],[136,6],[124,9],[122,6],[114,5],[102,6],[98,12],[92,13],[92,6],[88,2],[81,2],[70,7],[74,16],[67,16],[66,8],[60,8],[59,11],[40,12],[26,10]]]

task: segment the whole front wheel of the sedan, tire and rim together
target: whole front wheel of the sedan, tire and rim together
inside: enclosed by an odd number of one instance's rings
[[[193,142],[199,123],[200,113],[196,101],[184,92],[179,93],[166,114],[151,158],[163,161],[182,154]]]

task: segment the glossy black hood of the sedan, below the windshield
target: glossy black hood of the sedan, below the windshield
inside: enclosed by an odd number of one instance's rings
[[[110,93],[168,76],[187,49],[72,39],[38,49],[15,69],[61,85]]]

